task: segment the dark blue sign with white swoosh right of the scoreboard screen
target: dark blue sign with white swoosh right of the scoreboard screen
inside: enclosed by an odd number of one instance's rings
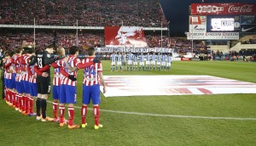
[[[256,33],[256,15],[241,16],[241,33]]]

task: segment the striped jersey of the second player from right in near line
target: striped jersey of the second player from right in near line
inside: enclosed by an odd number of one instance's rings
[[[71,67],[75,67],[80,63],[80,59],[77,58],[76,56],[73,55],[69,55],[68,56],[68,61],[67,63],[71,66]],[[70,71],[67,69],[67,65],[65,64],[64,60],[61,59],[59,60],[58,64],[62,67],[63,70],[65,70],[67,72],[67,74],[69,75],[73,75],[75,77],[77,77],[77,71]],[[70,85],[70,86],[76,86],[77,85],[77,81],[72,81],[70,79],[68,79],[68,77],[63,76],[61,74],[61,85]]]

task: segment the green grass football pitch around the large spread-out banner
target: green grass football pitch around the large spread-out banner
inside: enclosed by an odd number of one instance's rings
[[[104,76],[203,75],[256,83],[256,63],[174,61],[169,71],[110,71]],[[81,123],[83,71],[79,70],[74,121]],[[2,84],[1,84],[2,86]],[[108,88],[107,88],[108,92]],[[51,101],[49,95],[49,101]],[[104,98],[99,130],[91,110],[86,128],[68,130],[21,115],[0,100],[0,145],[255,145],[256,94]],[[52,104],[47,114],[52,116]],[[67,118],[67,107],[66,107]]]

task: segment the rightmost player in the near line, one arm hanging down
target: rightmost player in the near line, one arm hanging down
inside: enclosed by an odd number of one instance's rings
[[[95,48],[88,48],[88,58],[82,60],[82,64],[93,63],[95,59]],[[84,68],[84,84],[83,84],[83,106],[81,109],[82,115],[82,127],[87,126],[85,117],[87,115],[87,106],[90,104],[90,99],[93,104],[93,113],[95,119],[95,129],[99,129],[102,125],[99,122],[100,119],[100,108],[101,103],[101,91],[100,82],[103,86],[103,93],[106,93],[106,85],[102,75],[102,64],[96,63]]]

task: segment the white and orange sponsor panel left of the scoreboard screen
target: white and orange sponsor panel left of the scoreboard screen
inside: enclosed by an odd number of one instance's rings
[[[207,32],[207,16],[189,16],[189,32]]]

